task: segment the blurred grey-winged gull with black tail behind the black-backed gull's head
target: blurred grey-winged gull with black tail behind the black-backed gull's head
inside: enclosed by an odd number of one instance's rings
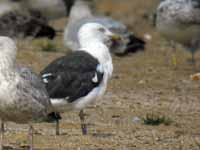
[[[109,17],[93,15],[90,3],[86,0],[76,0],[70,10],[68,24],[64,33],[64,45],[67,48],[71,50],[80,48],[78,30],[83,24],[89,22],[100,23],[113,33],[121,36],[121,40],[112,43],[110,50],[115,54],[120,55],[144,49],[145,42],[129,32],[126,25]]]

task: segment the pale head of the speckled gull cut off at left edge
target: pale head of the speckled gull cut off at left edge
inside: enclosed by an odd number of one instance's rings
[[[17,47],[15,42],[5,36],[0,36],[0,62],[13,66],[16,59]]]

